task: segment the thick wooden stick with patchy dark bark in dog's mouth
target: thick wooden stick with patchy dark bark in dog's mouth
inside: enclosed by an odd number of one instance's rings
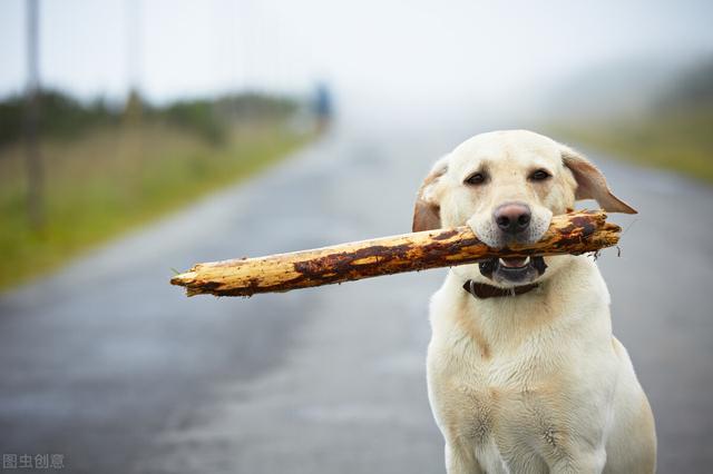
[[[553,217],[543,238],[527,246],[491,248],[463,226],[267,257],[197,264],[189,271],[174,276],[170,283],[185,286],[188,296],[252,296],[495,257],[578,255],[616,245],[619,231],[619,226],[606,221],[603,211],[577,211]]]

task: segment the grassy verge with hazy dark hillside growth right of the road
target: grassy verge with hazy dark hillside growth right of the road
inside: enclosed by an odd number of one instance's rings
[[[560,136],[616,157],[713,182],[713,61],[686,71],[637,117],[555,128]]]

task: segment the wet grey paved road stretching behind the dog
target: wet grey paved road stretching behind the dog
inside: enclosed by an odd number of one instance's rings
[[[334,134],[0,296],[0,452],[60,453],[72,473],[443,472],[423,373],[442,270],[251,299],[166,283],[195,261],[406,231],[429,162],[467,135]],[[603,164],[641,211],[599,261],[660,472],[707,472],[713,190]]]

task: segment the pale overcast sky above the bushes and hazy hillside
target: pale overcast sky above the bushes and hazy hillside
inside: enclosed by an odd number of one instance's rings
[[[130,66],[131,4],[140,53]],[[245,87],[478,103],[626,56],[713,50],[713,1],[41,0],[42,82],[154,100]],[[0,1],[0,95],[25,82],[25,1]]]

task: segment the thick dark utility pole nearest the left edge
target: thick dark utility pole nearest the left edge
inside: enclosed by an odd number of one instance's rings
[[[27,169],[27,206],[30,226],[45,227],[42,157],[39,144],[39,0],[27,0],[27,90],[25,115],[25,152]]]

